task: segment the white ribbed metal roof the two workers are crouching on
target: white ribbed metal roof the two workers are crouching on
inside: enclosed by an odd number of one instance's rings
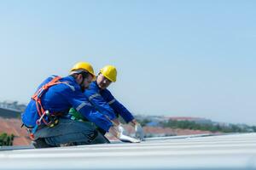
[[[256,169],[256,133],[2,150],[0,169]]]

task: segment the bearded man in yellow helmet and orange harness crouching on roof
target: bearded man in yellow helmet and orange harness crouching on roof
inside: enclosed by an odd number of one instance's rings
[[[36,148],[61,144],[108,143],[95,126],[67,118],[67,113],[72,107],[97,127],[117,138],[120,137],[118,129],[113,127],[113,122],[96,111],[84,95],[84,90],[94,78],[92,66],[79,62],[73,66],[69,76],[53,76],[41,83],[21,115],[23,125],[29,131]]]

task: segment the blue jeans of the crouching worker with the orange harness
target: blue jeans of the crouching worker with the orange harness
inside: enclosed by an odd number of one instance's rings
[[[91,122],[78,122],[71,119],[59,119],[55,127],[38,127],[35,139],[44,139],[50,146],[61,144],[104,144],[109,143]]]

